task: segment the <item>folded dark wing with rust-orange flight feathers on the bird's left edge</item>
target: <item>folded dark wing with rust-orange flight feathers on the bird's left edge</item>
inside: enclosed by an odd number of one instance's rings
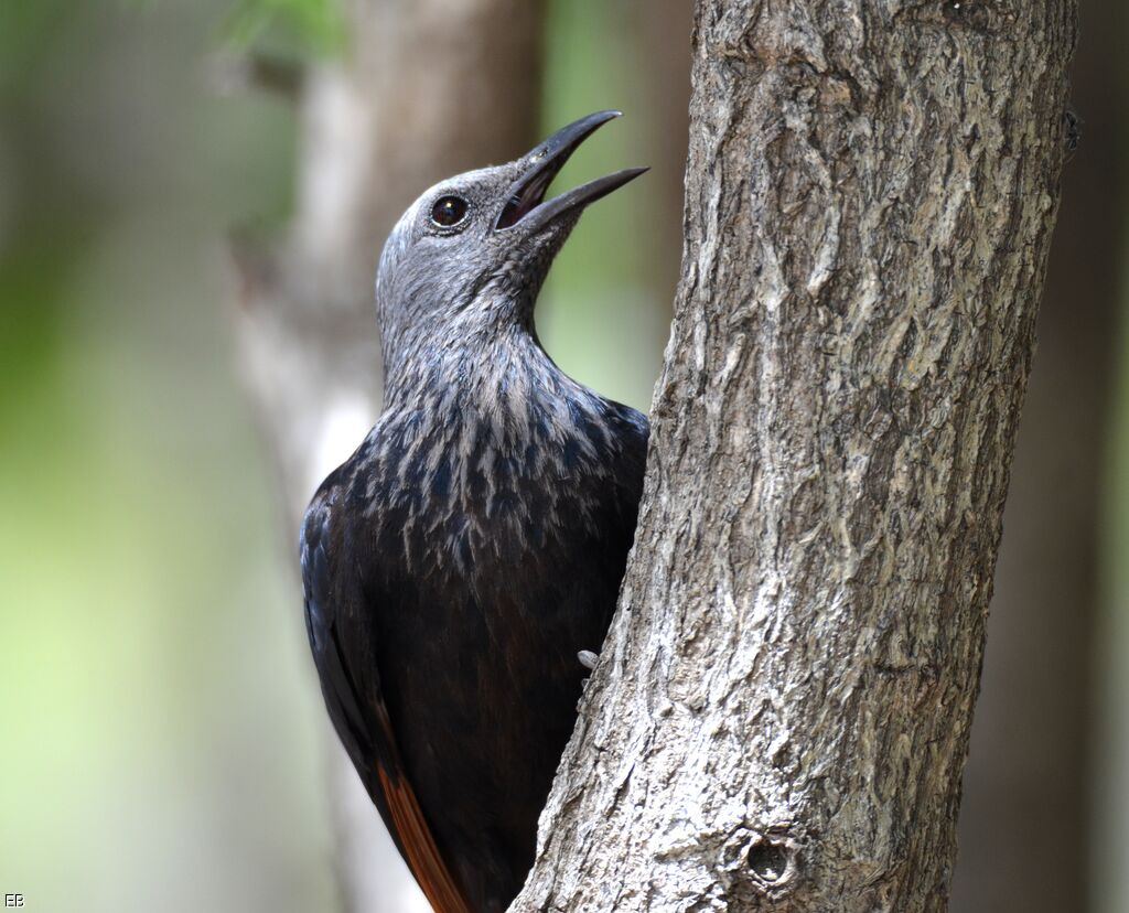
[[[352,562],[333,561],[343,545],[342,533],[332,523],[335,490],[331,476],[306,512],[300,538],[306,630],[322,694],[400,854],[436,913],[472,913],[404,774],[376,661],[342,633],[365,605]]]

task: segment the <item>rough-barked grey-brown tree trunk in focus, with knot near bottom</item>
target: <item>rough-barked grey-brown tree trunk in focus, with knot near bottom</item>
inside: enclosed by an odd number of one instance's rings
[[[515,911],[944,910],[1071,0],[700,0],[620,612]]]

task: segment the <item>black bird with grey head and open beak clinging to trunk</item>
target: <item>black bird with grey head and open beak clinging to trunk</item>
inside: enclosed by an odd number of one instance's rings
[[[545,200],[603,111],[426,191],[376,279],[384,404],[301,524],[330,719],[437,913],[501,913],[611,622],[648,422],[566,375],[534,305],[584,209]]]

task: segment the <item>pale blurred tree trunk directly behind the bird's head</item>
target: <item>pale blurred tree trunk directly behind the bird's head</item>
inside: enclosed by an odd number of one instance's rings
[[[383,238],[425,187],[533,144],[541,32],[530,0],[352,0],[340,60],[268,80],[297,91],[297,205],[280,244],[237,245],[237,316],[291,548],[315,486],[378,412]],[[402,913],[414,893],[406,869],[327,721],[326,741],[344,903]]]

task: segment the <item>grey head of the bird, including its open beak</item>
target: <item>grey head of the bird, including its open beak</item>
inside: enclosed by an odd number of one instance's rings
[[[545,200],[569,156],[618,116],[583,117],[522,158],[441,181],[409,207],[376,279],[386,371],[423,348],[530,326],[549,266],[585,207],[647,170],[616,172]]]

